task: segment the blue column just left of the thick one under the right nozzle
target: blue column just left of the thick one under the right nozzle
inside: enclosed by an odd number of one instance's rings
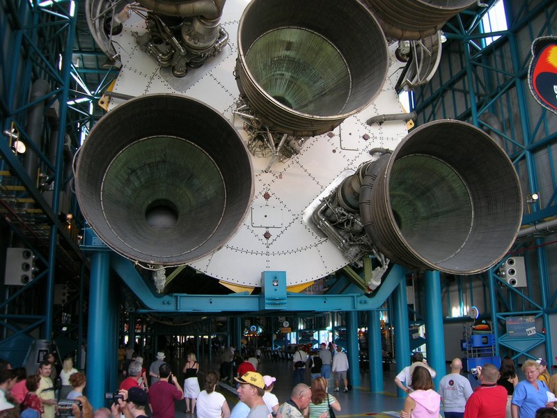
[[[397,373],[410,365],[410,339],[408,334],[408,301],[406,297],[406,281],[401,280],[393,295],[393,324],[395,325],[395,361]],[[406,396],[397,388],[399,398]]]

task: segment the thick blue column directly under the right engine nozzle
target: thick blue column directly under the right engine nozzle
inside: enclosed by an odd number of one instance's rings
[[[438,271],[427,270],[424,274],[425,298],[425,344],[427,361],[437,371],[433,379],[439,387],[445,375],[445,337],[443,331],[443,306],[441,304],[441,279]]]

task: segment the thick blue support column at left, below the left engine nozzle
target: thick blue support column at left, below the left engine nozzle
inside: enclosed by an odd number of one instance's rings
[[[91,284],[89,285],[89,325],[87,334],[87,397],[93,410],[104,406],[107,376],[107,308],[109,298],[110,254],[107,251],[91,255]]]

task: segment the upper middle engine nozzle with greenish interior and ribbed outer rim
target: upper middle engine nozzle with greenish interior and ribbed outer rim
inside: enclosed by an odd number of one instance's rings
[[[381,91],[386,39],[357,0],[252,0],[238,28],[237,83],[270,129],[334,129]]]

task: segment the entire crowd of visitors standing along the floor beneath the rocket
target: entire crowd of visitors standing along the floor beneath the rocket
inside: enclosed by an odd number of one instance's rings
[[[196,355],[189,353],[182,369],[182,389],[171,365],[165,362],[165,353],[157,353],[148,375],[141,357],[124,353],[123,358],[118,357],[124,378],[111,409],[96,411],[84,396],[84,373],[74,369],[71,358],[64,359],[63,366],[56,369],[55,356],[49,353],[31,376],[24,368],[12,370],[9,364],[0,362],[0,418],[143,418],[147,417],[146,411],[153,418],[174,418],[175,402],[182,399],[184,412],[199,418],[334,418],[341,405],[328,393],[331,372],[331,392],[351,389],[347,356],[340,347],[331,350],[322,343],[320,350],[306,353],[298,346],[290,360],[292,392],[282,403],[272,393],[276,378],[260,373],[260,353],[246,350],[238,356],[240,353],[232,347],[224,348],[221,354],[220,373],[199,373]],[[445,418],[557,418],[557,375],[549,374],[545,359],[526,360],[522,364],[525,378],[521,381],[510,357],[501,360],[499,369],[489,363],[478,366],[471,370],[478,380],[475,390],[462,376],[462,368],[462,361],[453,359],[450,373],[441,378],[436,390],[436,371],[422,353],[414,353],[411,365],[394,380],[407,394],[400,418],[439,418],[441,405]],[[305,381],[308,374],[311,385]],[[200,378],[203,387],[199,385]],[[237,403],[232,410],[217,390],[221,382],[237,389]]]

